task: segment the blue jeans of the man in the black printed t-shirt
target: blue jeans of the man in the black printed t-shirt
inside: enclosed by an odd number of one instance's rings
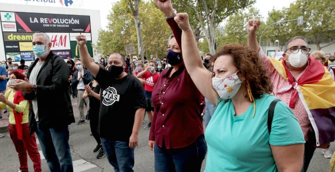
[[[129,142],[101,138],[101,143],[115,172],[133,171],[132,167],[135,164],[134,149],[129,147]]]

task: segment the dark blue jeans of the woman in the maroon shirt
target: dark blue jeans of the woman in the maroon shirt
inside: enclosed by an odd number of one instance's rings
[[[164,143],[164,142],[163,142]],[[184,148],[166,149],[165,145],[154,145],[155,171],[200,171],[207,152],[204,136],[198,137],[195,142]]]

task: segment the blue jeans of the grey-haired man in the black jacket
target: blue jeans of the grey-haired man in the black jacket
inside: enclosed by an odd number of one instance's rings
[[[38,121],[36,124],[36,134],[50,171],[73,171],[68,127],[40,129]]]

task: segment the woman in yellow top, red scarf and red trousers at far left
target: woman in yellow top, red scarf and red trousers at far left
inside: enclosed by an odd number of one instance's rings
[[[25,75],[18,71],[10,72],[10,83],[15,79],[24,79]],[[7,82],[7,81],[6,81]],[[9,89],[5,95],[0,94],[0,110],[6,106],[9,111],[8,132],[19,156],[20,170],[28,171],[27,152],[33,163],[34,171],[42,171],[41,157],[36,144],[35,134],[29,135],[29,102],[23,98],[21,91]]]

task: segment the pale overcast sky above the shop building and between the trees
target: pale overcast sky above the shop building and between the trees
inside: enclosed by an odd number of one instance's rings
[[[33,0],[29,0],[33,1]],[[52,0],[48,0],[52,1]],[[61,1],[61,0],[53,0],[53,1]],[[62,0],[64,2],[66,0]],[[118,2],[119,0],[72,0],[74,4],[71,6],[72,8],[83,8],[83,9],[91,9],[91,10],[100,10],[101,15],[101,26],[102,28],[106,28],[108,25],[107,16],[110,13],[112,8],[112,4]],[[172,0],[173,1],[173,0]],[[212,1],[212,0],[210,0]],[[37,2],[27,2],[25,0],[0,0],[0,3],[11,3],[11,4],[30,4],[36,5]],[[98,3],[97,3],[98,2]],[[254,7],[260,10],[261,15],[266,18],[267,12],[271,11],[273,8],[279,10],[283,7],[289,7],[289,4],[292,0],[256,0]],[[42,5],[50,6],[50,3],[41,3]],[[57,6],[53,7],[62,7],[60,3],[57,3]],[[64,7],[66,8],[66,7]]]

